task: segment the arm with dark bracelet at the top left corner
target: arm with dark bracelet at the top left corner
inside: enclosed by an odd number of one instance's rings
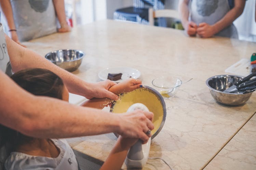
[[[19,42],[17,32],[14,31],[14,30],[16,30],[16,27],[14,24],[12,5],[11,5],[10,0],[0,0],[0,5],[1,5],[1,11],[7,20],[9,30],[13,30],[13,31],[10,31],[12,40],[14,40],[19,45],[26,47],[26,46],[22,45],[21,42]]]

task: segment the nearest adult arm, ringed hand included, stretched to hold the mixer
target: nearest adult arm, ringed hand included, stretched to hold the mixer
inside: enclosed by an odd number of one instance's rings
[[[0,124],[27,136],[68,138],[115,132],[147,141],[145,132],[153,129],[150,112],[111,114],[50,97],[34,96],[2,71],[0,80]]]

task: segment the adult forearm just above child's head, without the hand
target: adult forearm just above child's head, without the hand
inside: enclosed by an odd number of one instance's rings
[[[5,39],[14,72],[26,68],[45,68],[59,75],[59,77],[63,79],[69,92],[73,94],[85,96],[86,92],[91,90],[90,83],[86,83],[74,74],[59,68],[58,66],[52,64],[39,54],[29,49],[23,48],[22,46],[19,46],[7,35],[5,35]]]

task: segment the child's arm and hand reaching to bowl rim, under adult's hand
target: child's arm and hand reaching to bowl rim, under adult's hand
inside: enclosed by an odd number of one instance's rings
[[[115,84],[109,88],[109,91],[113,92],[114,94],[118,95],[123,92],[130,92],[137,88],[139,88],[142,85],[141,80],[137,79],[127,79],[123,82],[120,82],[118,84]],[[110,104],[112,102],[109,98],[92,98],[90,100],[86,100],[84,103],[81,104],[81,106],[86,107],[93,107],[93,108],[104,108],[106,105]]]

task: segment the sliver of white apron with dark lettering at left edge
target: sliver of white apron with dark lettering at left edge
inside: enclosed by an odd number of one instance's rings
[[[0,69],[7,75],[12,75],[12,67],[10,64],[10,58],[5,43],[5,36],[3,33],[3,25],[0,23]]]

